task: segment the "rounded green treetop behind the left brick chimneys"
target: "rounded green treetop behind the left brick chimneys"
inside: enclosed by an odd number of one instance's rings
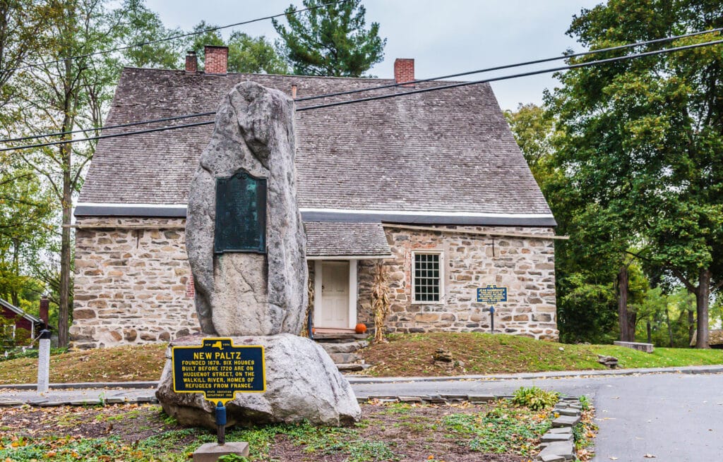
[[[202,21],[193,30],[201,32],[213,27],[215,26]],[[205,45],[223,46],[225,43],[218,30],[193,35],[187,48],[196,52],[201,65],[205,61],[203,51]],[[234,31],[228,39],[228,71],[248,74],[288,74],[288,66],[265,37],[254,38],[244,32]]]

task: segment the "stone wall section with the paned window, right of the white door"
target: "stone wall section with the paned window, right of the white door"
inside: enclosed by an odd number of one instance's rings
[[[448,227],[449,228],[449,227]],[[495,332],[557,339],[555,246],[550,228],[456,227],[435,232],[385,227],[393,260],[385,261],[390,279],[388,332],[489,332],[489,305],[476,302],[477,287],[508,287],[508,302],[495,306]],[[539,235],[503,237],[466,233]],[[438,303],[412,302],[414,250],[439,250],[444,265],[444,296]],[[359,262],[359,321],[374,326],[369,297],[377,261]]]

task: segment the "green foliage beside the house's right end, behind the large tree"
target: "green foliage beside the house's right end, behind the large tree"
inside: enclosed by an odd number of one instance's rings
[[[630,243],[628,234],[620,232],[620,217],[589,201],[557,165],[556,147],[565,138],[556,131],[552,111],[519,105],[516,112],[506,111],[505,117],[555,214],[558,234],[570,236],[569,241],[555,244],[560,338],[612,341],[617,318],[620,339],[634,341],[636,315],[628,310],[628,297],[638,291],[631,291],[628,284],[632,262],[625,250]]]

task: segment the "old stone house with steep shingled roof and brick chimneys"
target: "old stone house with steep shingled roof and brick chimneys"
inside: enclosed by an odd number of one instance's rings
[[[228,74],[127,68],[106,125],[215,111],[247,79],[296,99],[414,79]],[[427,89],[420,82],[325,100]],[[205,121],[111,128],[106,134]],[[188,186],[213,131],[194,126],[102,139],[74,211],[77,347],[167,341],[198,330],[184,248]],[[508,287],[495,331],[557,339],[555,219],[488,84],[296,113],[298,202],[307,231],[317,328],[373,326],[370,287],[389,269],[387,330],[489,331],[476,289]]]

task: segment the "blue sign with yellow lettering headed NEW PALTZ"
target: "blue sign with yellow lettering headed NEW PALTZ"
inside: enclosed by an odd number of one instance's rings
[[[194,347],[173,347],[176,393],[203,393],[226,404],[236,393],[266,391],[264,347],[234,346],[231,339],[203,339]]]

